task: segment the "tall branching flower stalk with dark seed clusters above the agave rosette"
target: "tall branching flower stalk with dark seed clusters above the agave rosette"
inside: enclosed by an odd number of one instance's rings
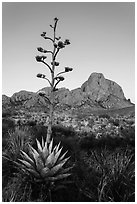
[[[64,71],[59,72],[56,76],[55,76],[55,68],[57,66],[59,66],[59,62],[56,61],[57,55],[59,53],[59,51],[63,48],[65,48],[65,46],[69,45],[70,42],[68,39],[66,39],[64,42],[61,41],[61,37],[57,37],[56,36],[56,28],[57,28],[57,23],[58,23],[58,18],[54,18],[54,25],[50,25],[50,27],[53,29],[53,38],[48,37],[46,35],[46,32],[43,32],[41,34],[41,37],[43,37],[45,40],[50,40],[53,44],[53,49],[51,50],[45,50],[42,47],[38,47],[37,50],[41,53],[46,53],[46,54],[51,54],[52,57],[52,61],[51,61],[51,65],[49,65],[47,62],[45,62],[45,59],[47,58],[47,56],[42,55],[42,56],[36,56],[36,61],[37,62],[42,62],[50,71],[51,73],[51,79],[48,79],[46,77],[45,74],[37,74],[38,78],[42,78],[45,79],[49,82],[50,85],[50,97],[49,97],[49,104],[50,104],[50,111],[49,111],[49,123],[48,123],[48,129],[47,129],[47,139],[46,142],[49,144],[51,141],[51,134],[52,134],[52,125],[53,125],[53,120],[54,120],[54,92],[57,90],[57,85],[64,80],[63,76],[59,76],[60,74],[64,74],[66,72],[72,71],[72,68],[69,67],[65,67]],[[39,93],[40,94],[40,93]],[[47,98],[47,96],[45,96],[45,94],[40,94],[41,96]]]

